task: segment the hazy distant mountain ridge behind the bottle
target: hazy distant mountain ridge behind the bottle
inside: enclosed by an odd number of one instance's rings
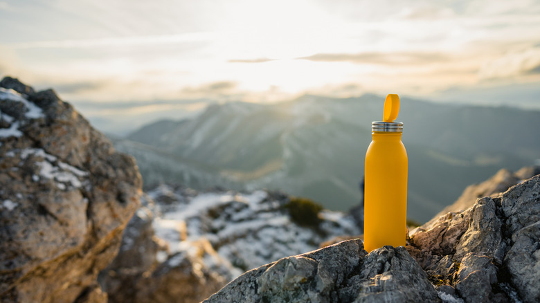
[[[165,171],[192,187],[280,189],[347,210],[361,199],[370,126],[383,103],[377,95],[305,95],[280,104],[213,104],[191,120],[143,127],[116,147],[136,157],[147,185],[164,181]],[[540,111],[402,98],[398,120],[409,158],[408,216],[419,221],[501,167],[540,158]],[[151,156],[156,151],[161,156]],[[161,165],[161,176],[152,178],[152,163],[163,156],[181,160]]]

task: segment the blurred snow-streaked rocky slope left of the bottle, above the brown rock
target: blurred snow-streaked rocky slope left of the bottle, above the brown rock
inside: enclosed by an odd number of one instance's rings
[[[186,194],[181,187],[160,185],[148,192],[161,215],[153,222],[156,237],[168,243],[170,255],[186,244],[208,239],[219,256],[249,270],[319,247],[339,235],[358,235],[354,220],[324,210],[318,227],[300,226],[283,207],[288,197],[258,190]]]

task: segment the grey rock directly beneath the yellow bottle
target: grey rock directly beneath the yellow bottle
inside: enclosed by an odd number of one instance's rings
[[[204,302],[440,302],[404,247],[343,241],[250,270]]]

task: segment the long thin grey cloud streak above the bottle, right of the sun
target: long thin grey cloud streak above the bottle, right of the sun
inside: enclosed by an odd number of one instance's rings
[[[445,62],[450,58],[442,53],[318,53],[299,57],[310,61],[353,62],[357,64],[413,65]]]

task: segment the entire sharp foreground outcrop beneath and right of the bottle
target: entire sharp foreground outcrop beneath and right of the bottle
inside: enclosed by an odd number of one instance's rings
[[[540,175],[370,252],[343,241],[244,273],[205,302],[539,302]]]

